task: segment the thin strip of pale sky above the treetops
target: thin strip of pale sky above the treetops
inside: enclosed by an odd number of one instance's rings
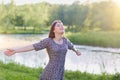
[[[0,3],[4,1],[5,4],[10,3],[11,0],[0,0]],[[32,3],[39,3],[39,2],[48,2],[51,4],[72,4],[76,0],[14,0],[16,5],[23,5],[23,4],[32,4]],[[85,1],[90,2],[99,2],[99,1],[108,1],[108,0],[78,0],[80,3],[84,3]],[[116,3],[120,4],[120,0],[113,0]]]

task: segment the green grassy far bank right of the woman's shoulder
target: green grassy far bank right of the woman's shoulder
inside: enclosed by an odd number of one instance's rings
[[[80,45],[91,45],[101,47],[120,47],[120,31],[98,31],[67,33],[71,42]]]

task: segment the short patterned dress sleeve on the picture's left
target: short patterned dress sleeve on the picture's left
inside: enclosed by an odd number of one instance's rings
[[[33,44],[33,47],[36,51],[47,48],[49,43],[49,38],[43,39],[38,43]]]

